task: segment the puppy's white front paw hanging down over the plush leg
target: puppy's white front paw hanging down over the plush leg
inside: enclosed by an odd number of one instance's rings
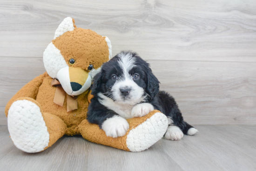
[[[106,132],[107,137],[116,138],[126,134],[129,124],[124,118],[114,116],[105,120],[101,127]]]

